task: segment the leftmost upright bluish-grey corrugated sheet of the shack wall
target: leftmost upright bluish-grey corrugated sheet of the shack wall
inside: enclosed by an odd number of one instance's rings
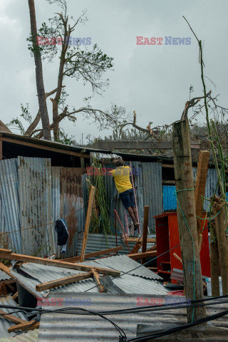
[[[1,160],[0,233],[12,233],[1,234],[0,247],[13,249],[13,251],[17,253],[21,252],[21,225],[19,213],[20,208],[17,160]]]

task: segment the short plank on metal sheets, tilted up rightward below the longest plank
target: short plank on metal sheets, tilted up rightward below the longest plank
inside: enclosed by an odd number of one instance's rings
[[[36,285],[36,291],[41,292],[41,291],[53,289],[54,287],[76,283],[77,281],[88,279],[91,276],[93,276],[93,271],[88,272],[88,273],[74,274],[73,276],[66,276],[61,279],[47,281],[46,283]]]

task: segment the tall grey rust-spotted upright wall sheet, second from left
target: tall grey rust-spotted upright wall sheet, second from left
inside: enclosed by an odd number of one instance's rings
[[[53,254],[56,244],[52,220],[51,160],[18,157],[18,167],[23,252],[39,256]]]

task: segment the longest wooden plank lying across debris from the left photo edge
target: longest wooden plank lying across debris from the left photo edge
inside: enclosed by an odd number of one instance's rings
[[[28,255],[23,255],[23,254],[15,254],[15,253],[4,254],[1,252],[0,258],[6,259],[6,260],[18,260],[18,261],[24,261],[24,262],[32,262],[33,264],[56,266],[56,267],[61,267],[65,269],[78,269],[78,271],[91,271],[91,266],[82,265],[82,264],[73,264],[71,262],[57,261],[57,260],[52,260],[52,259],[44,259],[44,258],[39,258],[39,257],[31,257]],[[6,267],[6,269],[8,269],[8,267]],[[4,271],[4,269],[2,270]],[[120,271],[115,271],[113,269],[103,269],[102,267],[97,267],[97,270],[98,270],[98,273],[100,274],[108,274],[109,276],[120,276]],[[14,276],[12,276],[11,274],[9,275],[12,278],[14,278]]]

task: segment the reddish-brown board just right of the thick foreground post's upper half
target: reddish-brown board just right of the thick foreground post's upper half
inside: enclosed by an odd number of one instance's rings
[[[197,165],[197,179],[195,182],[195,209],[198,217],[202,218],[203,199],[205,195],[206,183],[207,183],[207,170],[209,164],[209,151],[199,152],[199,161]],[[199,241],[199,233],[202,220],[197,218],[197,234]]]

